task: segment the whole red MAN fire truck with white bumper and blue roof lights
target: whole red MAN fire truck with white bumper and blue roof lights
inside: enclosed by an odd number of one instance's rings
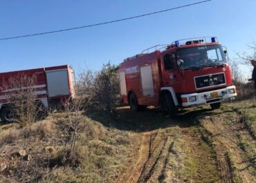
[[[143,50],[120,64],[119,75],[123,100],[136,111],[161,106],[175,116],[177,108],[210,104],[216,109],[224,99],[237,96],[227,51],[217,37],[183,39]]]

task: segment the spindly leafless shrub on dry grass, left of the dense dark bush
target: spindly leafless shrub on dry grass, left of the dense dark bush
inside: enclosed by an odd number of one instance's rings
[[[79,87],[76,90],[80,90]],[[62,142],[64,142],[64,149],[60,153],[61,164],[79,164],[80,157],[77,157],[80,151],[80,145],[77,144],[81,133],[89,124],[89,118],[84,116],[86,110],[90,106],[90,98],[86,93],[77,93],[73,98],[68,99],[64,106],[66,117],[62,119]],[[75,163],[74,163],[75,162]]]

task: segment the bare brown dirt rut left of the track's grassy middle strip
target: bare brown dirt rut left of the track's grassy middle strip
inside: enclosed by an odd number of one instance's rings
[[[136,135],[138,137],[139,133]],[[128,168],[127,171],[118,179],[119,182],[141,183],[150,182],[152,175],[161,173],[158,165],[164,163],[165,156],[172,144],[172,137],[165,136],[165,130],[158,128],[157,130],[143,133],[139,144],[139,151],[135,155],[136,160],[134,166]],[[156,172],[157,171],[157,172]]]

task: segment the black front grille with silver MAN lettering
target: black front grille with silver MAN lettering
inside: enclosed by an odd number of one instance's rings
[[[194,77],[196,89],[226,84],[224,73]]]

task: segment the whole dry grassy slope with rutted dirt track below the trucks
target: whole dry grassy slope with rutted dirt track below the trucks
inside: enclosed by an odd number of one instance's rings
[[[72,158],[66,113],[0,126],[0,182],[256,182],[255,100],[117,114],[84,115]]]

